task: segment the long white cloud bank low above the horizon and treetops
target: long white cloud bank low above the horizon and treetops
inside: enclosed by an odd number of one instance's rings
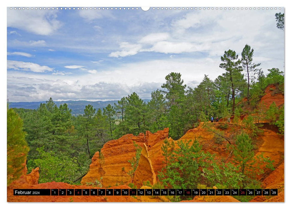
[[[70,76],[64,76],[64,72],[57,71],[53,75],[7,71],[7,95],[13,102],[45,101],[49,97],[54,100],[113,100],[135,91],[141,98],[149,99],[151,91],[161,89],[165,76],[169,73],[181,73],[184,84],[195,87],[202,81],[204,74],[209,75],[212,80],[221,75],[224,70],[219,68],[220,62],[216,58],[175,57],[121,64],[118,67],[98,70],[96,73],[89,73],[89,70],[83,68],[88,73]],[[274,63],[270,63],[270,66],[272,64]],[[17,88],[12,85],[17,85]],[[34,91],[30,92],[29,89]]]

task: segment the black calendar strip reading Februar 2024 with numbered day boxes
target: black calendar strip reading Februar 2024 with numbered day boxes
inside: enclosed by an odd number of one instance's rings
[[[278,189],[13,189],[14,196],[277,196]]]

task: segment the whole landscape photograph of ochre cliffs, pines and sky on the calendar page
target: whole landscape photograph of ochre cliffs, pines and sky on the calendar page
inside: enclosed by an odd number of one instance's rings
[[[284,202],[284,67],[284,7],[7,7],[7,202]]]

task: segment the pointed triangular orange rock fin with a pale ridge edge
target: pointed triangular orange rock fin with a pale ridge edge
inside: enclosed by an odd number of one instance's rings
[[[150,156],[147,151],[147,146],[144,144],[132,183],[140,188],[143,185],[143,182],[147,181],[149,181],[151,185],[156,184],[156,174],[153,170],[152,161],[150,160]]]

